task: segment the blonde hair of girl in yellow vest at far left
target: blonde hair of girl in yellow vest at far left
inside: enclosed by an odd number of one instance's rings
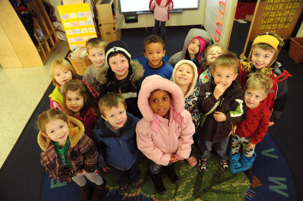
[[[55,70],[56,68],[60,68],[61,70],[70,71],[72,73],[72,79],[77,79],[77,74],[73,68],[73,66],[65,59],[57,59],[54,61],[50,67],[50,74],[53,80],[53,84],[60,88],[60,84],[55,79]]]

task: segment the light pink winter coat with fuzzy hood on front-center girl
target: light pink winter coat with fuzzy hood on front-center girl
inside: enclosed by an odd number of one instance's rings
[[[164,90],[171,94],[169,120],[154,113],[148,104],[150,93]],[[159,75],[147,76],[141,85],[138,107],[143,118],[136,127],[137,144],[141,152],[156,164],[167,165],[170,154],[186,159],[191,151],[195,126],[190,113],[184,110],[183,93],[172,81]]]

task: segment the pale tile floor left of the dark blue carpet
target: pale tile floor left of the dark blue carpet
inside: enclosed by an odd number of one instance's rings
[[[51,82],[51,63],[64,58],[68,50],[68,43],[62,41],[43,67],[0,67],[0,103],[5,106],[0,119],[0,168]]]

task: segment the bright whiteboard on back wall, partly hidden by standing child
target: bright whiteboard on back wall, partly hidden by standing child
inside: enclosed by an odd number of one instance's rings
[[[119,0],[121,13],[149,11],[150,0]],[[173,0],[174,10],[198,9],[199,0]]]

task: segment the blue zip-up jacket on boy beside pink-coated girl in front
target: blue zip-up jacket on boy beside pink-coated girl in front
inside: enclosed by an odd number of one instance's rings
[[[100,118],[93,129],[95,142],[106,146],[106,161],[108,164],[121,169],[129,169],[137,160],[138,151],[136,139],[136,125],[140,119],[127,113],[127,122],[118,130],[119,137],[105,125],[105,120]]]

